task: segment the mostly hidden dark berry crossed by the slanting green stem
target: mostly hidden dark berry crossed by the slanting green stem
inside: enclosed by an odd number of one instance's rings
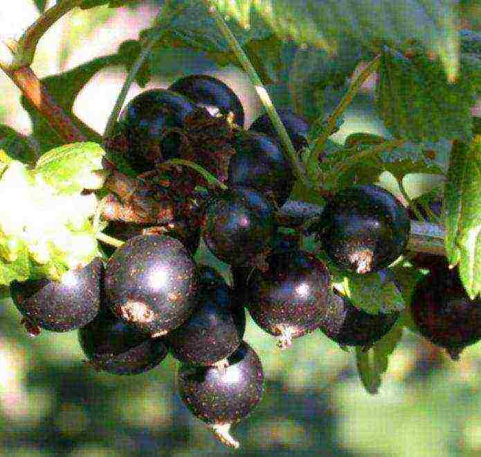
[[[309,134],[309,123],[302,116],[291,111],[291,109],[278,109],[280,120],[284,124],[287,130],[289,138],[291,138],[292,144],[296,151],[302,150],[307,147],[307,135]],[[278,133],[275,131],[274,125],[271,122],[268,114],[262,114],[258,117],[249,127],[251,132],[260,132],[273,138],[278,138]]]

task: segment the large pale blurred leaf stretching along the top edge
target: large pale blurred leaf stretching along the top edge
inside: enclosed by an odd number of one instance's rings
[[[365,46],[379,42],[400,46],[416,39],[439,55],[450,78],[457,75],[459,35],[453,0],[215,0],[215,4],[249,30],[262,18],[283,39],[339,54],[345,37]]]

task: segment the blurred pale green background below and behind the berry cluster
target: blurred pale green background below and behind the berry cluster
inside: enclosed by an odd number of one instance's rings
[[[157,8],[152,2],[136,10],[96,8],[69,15],[42,39],[35,71],[45,76],[114,52],[148,26]],[[32,0],[0,4],[6,35],[20,33],[36,17]],[[166,87],[183,73],[208,72],[241,96],[247,125],[260,111],[251,85],[237,69],[219,69],[194,53],[166,53],[165,71],[167,78],[148,87]],[[75,113],[98,132],[123,78],[120,69],[102,71],[75,102]],[[372,82],[347,111],[337,141],[355,131],[385,132],[374,113]],[[134,84],[128,98],[141,90]],[[3,74],[0,93],[0,122],[30,134],[19,93]],[[415,192],[413,184],[412,196]],[[406,330],[379,394],[372,396],[359,382],[354,352],[344,352],[320,332],[281,352],[273,337],[248,319],[246,341],[264,364],[264,398],[233,429],[242,449],[231,451],[181,403],[172,358],[135,377],[96,373],[84,364],[76,332],[44,331],[30,339],[19,321],[10,299],[0,300],[1,456],[481,455],[481,344],[465,350],[455,363]]]

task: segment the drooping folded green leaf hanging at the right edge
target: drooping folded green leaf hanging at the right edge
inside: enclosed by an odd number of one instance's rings
[[[455,141],[444,189],[446,253],[459,264],[466,292],[481,293],[481,135],[470,144]]]

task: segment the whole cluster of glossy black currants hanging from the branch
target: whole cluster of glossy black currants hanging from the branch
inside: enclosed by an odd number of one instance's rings
[[[307,146],[309,125],[289,110],[280,116],[300,152]],[[141,93],[125,107],[118,125],[122,156],[143,179],[154,181],[142,195],[156,189],[167,196],[169,205],[158,200],[152,210],[149,204],[149,214],[170,214],[185,201],[196,201],[183,220],[183,226],[197,221],[190,227],[193,238],[167,216],[154,229],[129,224],[129,217],[148,219],[131,205],[120,212],[127,224],[116,228],[126,242],[106,265],[96,259],[60,283],[14,283],[12,298],[31,334],[39,328],[79,329],[82,350],[98,370],[144,373],[170,353],[181,362],[179,392],[185,405],[219,440],[238,447],[230,425],[260,402],[264,380],[260,358],[244,341],[245,309],[277,337],[280,348],[314,330],[341,346],[370,348],[389,332],[399,312],[367,314],[355,307],[334,291],[319,256],[302,249],[300,231],[283,231],[276,213],[295,180],[286,154],[267,116],[243,129],[242,104],[223,82],[193,75],[169,89]],[[226,190],[208,188],[199,203],[196,192],[203,181],[193,186],[179,174],[181,190],[163,192],[165,186],[176,187],[176,182],[165,185],[163,168],[176,158],[200,163]],[[355,186],[338,192],[305,228],[337,267],[352,274],[378,271],[383,280],[394,281],[387,267],[406,250],[410,219],[389,192]],[[200,237],[230,265],[232,284],[196,264]],[[424,321],[429,326],[433,319]],[[430,339],[459,350],[466,346],[462,337],[452,347]]]

